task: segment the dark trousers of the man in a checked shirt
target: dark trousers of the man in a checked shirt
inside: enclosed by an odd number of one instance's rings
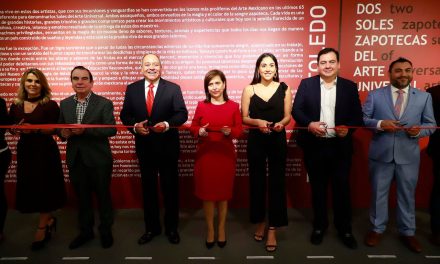
[[[82,234],[92,234],[95,222],[93,193],[96,194],[99,212],[100,234],[111,233],[113,207],[110,193],[112,163],[90,167],[78,155],[74,165],[69,167],[70,181],[78,198],[78,221]]]

